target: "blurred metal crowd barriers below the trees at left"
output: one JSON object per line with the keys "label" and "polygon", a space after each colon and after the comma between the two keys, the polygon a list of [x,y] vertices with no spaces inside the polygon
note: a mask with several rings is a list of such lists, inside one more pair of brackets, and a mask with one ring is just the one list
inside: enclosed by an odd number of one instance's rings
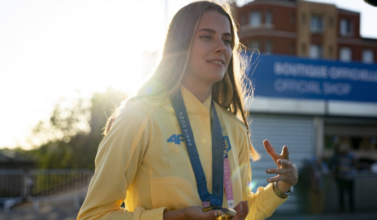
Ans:
{"label": "blurred metal crowd barriers below the trees at left", "polygon": [[40,202],[73,201],[80,208],[80,198],[93,176],[90,169],[0,169],[0,203],[7,211],[22,201]]}

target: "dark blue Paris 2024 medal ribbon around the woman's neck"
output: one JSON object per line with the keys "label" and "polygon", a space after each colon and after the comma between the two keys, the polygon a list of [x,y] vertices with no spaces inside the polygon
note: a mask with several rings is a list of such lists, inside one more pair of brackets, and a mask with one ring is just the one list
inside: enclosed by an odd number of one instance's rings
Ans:
{"label": "dark blue Paris 2024 medal ribbon around the woman's neck", "polygon": [[[191,165],[194,170],[195,178],[197,180],[197,187],[199,196],[202,200],[203,206],[222,206],[223,205],[223,191],[224,191],[224,154],[223,154],[223,133],[219,117],[217,115],[214,101],[212,101],[212,194],[208,191],[206,175],[203,171],[203,166],[199,158],[199,153],[194,140],[193,130],[190,125],[189,116],[187,115],[186,107],[184,105],[182,93],[180,89],[176,95],[171,97],[176,117],[182,131],[187,152],[189,153]],[[233,197],[233,195],[232,195]]]}

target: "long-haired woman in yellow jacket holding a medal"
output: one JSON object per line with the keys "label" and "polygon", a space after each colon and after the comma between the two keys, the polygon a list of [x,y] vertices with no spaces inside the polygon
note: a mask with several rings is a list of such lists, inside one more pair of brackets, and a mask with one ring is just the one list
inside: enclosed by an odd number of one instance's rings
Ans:
{"label": "long-haired woman in yellow jacket holding a medal", "polygon": [[106,124],[78,219],[222,214],[203,211],[208,205],[234,208],[234,220],[264,219],[286,200],[297,169],[286,146],[279,155],[267,140],[278,168],[266,171],[278,175],[248,190],[250,155],[259,154],[249,140],[240,52],[229,6],[198,1],[174,15],[153,76]]}

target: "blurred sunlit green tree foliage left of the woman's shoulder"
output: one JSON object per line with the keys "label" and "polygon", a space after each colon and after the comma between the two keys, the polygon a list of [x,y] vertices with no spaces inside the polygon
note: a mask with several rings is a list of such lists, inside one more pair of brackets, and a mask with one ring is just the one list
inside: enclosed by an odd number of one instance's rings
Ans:
{"label": "blurred sunlit green tree foliage left of the woman's shoulder", "polygon": [[39,122],[34,129],[33,141],[41,144],[32,150],[16,148],[14,153],[32,158],[38,168],[94,169],[107,116],[125,97],[123,92],[107,89],[94,93],[90,101],[62,99],[50,120]]}

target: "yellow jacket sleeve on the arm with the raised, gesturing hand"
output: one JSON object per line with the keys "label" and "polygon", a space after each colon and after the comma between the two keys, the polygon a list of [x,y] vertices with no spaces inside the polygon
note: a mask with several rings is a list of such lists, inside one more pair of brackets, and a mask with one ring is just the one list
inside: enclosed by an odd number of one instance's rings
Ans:
{"label": "yellow jacket sleeve on the arm with the raised, gesturing hand", "polygon": [[[249,214],[247,220],[266,219],[271,216],[276,208],[286,199],[278,197],[273,188],[272,183],[265,187],[258,187],[256,192],[252,192],[248,187],[251,182],[251,164],[250,164],[250,147],[247,139],[247,132],[244,130],[244,138],[240,141],[239,162],[243,187],[243,200],[249,201]],[[247,165],[242,165],[247,164]],[[266,167],[268,168],[268,167]]]}

